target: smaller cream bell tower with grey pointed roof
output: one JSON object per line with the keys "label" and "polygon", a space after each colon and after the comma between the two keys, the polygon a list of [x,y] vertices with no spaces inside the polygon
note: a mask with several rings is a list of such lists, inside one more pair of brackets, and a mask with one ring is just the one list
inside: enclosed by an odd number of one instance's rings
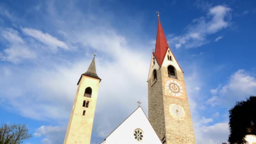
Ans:
{"label": "smaller cream bell tower with grey pointed roof", "polygon": [[101,81],[96,74],[94,57],[87,72],[81,75],[77,83],[77,93],[64,144],[90,144],[99,83]]}

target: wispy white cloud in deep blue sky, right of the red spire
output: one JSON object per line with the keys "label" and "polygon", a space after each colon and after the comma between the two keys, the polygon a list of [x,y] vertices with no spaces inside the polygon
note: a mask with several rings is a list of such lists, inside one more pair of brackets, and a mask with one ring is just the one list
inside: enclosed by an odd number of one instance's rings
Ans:
{"label": "wispy white cloud in deep blue sky, right of the red spire", "polygon": [[207,17],[194,19],[193,23],[187,27],[184,35],[174,36],[169,39],[171,45],[176,48],[199,47],[208,43],[207,36],[214,34],[221,29],[228,27],[231,19],[231,8],[224,5],[217,5],[209,9]]}

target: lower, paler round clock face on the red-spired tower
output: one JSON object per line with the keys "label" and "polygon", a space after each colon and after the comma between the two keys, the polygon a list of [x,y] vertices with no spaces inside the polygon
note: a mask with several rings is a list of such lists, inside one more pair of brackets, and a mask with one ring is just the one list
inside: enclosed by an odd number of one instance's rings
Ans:
{"label": "lower, paler round clock face on the red-spired tower", "polygon": [[170,112],[171,117],[173,117],[174,120],[184,120],[185,119],[186,114],[185,114],[184,108],[178,104],[170,104],[169,112]]}

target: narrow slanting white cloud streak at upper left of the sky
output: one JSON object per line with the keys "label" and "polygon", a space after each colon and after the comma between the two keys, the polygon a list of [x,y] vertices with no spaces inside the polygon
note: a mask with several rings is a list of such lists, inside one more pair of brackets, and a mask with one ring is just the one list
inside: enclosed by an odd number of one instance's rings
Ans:
{"label": "narrow slanting white cloud streak at upper left of the sky", "polygon": [[53,52],[56,52],[58,48],[69,49],[68,45],[58,38],[53,37],[48,33],[43,33],[40,30],[32,29],[32,28],[22,28],[22,31],[31,37],[34,37],[36,40],[48,45]]}

